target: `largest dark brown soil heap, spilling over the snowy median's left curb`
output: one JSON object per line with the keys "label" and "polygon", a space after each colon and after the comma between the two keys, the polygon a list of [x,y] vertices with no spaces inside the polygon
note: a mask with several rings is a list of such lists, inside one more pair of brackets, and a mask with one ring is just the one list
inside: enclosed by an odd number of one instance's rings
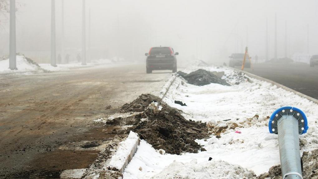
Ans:
{"label": "largest dark brown soil heap, spilling over the snowy median's left curb", "polygon": [[[148,99],[156,99],[162,106],[161,110],[157,107],[147,107],[146,110],[135,116],[135,125],[127,130],[134,131],[140,135],[141,139],[146,140],[155,149],[163,149],[169,154],[181,154],[183,152],[197,153],[199,150],[205,151],[195,139],[202,139],[207,136],[208,130],[206,123],[199,123],[192,120],[186,120],[178,109],[172,108],[163,103],[156,96],[147,94]],[[145,94],[134,100],[137,104],[130,103],[129,106],[136,106],[139,110],[141,99]],[[151,101],[152,102],[152,101]],[[150,103],[151,103],[150,102]],[[143,104],[146,104],[143,103]],[[123,108],[126,108],[124,105]],[[134,109],[132,111],[135,111]],[[140,120],[147,119],[147,120]]]}

